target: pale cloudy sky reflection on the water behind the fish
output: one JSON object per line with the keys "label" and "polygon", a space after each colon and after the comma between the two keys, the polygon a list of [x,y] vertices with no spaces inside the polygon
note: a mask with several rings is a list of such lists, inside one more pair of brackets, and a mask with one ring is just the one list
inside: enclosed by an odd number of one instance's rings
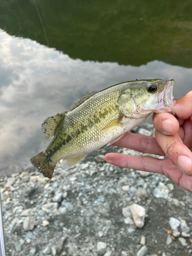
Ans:
{"label": "pale cloudy sky reflection on the water behind the fish", "polygon": [[4,31],[0,51],[0,150],[6,174],[31,165],[29,159],[45,150],[50,140],[41,135],[42,121],[66,111],[86,93],[136,78],[175,79],[177,98],[192,88],[192,69],[158,60],[140,67],[82,61]]}

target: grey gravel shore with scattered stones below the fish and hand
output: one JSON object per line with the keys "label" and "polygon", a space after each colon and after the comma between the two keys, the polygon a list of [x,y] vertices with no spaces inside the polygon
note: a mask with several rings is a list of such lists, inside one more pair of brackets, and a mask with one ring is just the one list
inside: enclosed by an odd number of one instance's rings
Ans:
{"label": "grey gravel shore with scattered stones below the fish and hand", "polygon": [[0,177],[8,256],[192,255],[191,195],[162,175],[111,166],[108,152],[142,155],[108,146],[57,165],[51,180],[34,167]]}

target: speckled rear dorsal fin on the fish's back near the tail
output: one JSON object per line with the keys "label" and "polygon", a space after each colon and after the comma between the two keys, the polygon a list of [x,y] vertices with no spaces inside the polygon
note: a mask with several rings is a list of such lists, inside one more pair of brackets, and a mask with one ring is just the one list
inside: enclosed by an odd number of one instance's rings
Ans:
{"label": "speckled rear dorsal fin on the fish's back near the tail", "polygon": [[66,113],[67,112],[50,116],[44,122],[42,122],[41,132],[44,139],[49,139],[55,135],[57,124],[60,122],[61,118],[66,115]]}

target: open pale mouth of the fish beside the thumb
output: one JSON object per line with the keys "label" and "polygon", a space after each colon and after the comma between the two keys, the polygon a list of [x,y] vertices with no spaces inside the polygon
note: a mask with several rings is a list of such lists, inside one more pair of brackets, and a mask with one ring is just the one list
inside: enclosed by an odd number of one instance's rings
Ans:
{"label": "open pale mouth of the fish beside the thumb", "polygon": [[174,80],[166,81],[166,86],[158,97],[158,113],[159,112],[172,112],[175,105],[173,97]]}

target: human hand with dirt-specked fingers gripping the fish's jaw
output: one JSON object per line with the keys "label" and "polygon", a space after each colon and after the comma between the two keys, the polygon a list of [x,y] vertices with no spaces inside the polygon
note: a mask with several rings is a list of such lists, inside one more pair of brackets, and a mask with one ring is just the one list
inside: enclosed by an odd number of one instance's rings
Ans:
{"label": "human hand with dirt-specked fingers gripping the fish's jaw", "polygon": [[176,117],[169,113],[154,114],[155,138],[126,133],[113,144],[164,159],[110,153],[105,155],[105,161],[163,174],[192,194],[192,91],[176,101],[174,112]]}

